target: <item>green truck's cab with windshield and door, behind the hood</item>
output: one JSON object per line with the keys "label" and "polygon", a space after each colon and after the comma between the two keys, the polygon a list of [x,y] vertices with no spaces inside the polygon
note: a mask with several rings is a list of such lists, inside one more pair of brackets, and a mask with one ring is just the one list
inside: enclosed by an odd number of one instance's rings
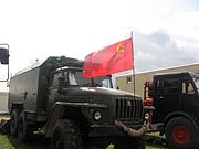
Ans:
{"label": "green truck's cab with windshield and door, behind the hood", "polygon": [[54,97],[54,93],[64,94],[73,91],[77,94],[81,89],[90,91],[90,88],[86,87],[93,87],[93,89],[96,87],[113,88],[111,75],[95,78],[84,78],[82,77],[82,66],[64,66],[52,72],[49,81],[50,97],[48,110],[51,110],[52,106],[55,102],[57,102]]}

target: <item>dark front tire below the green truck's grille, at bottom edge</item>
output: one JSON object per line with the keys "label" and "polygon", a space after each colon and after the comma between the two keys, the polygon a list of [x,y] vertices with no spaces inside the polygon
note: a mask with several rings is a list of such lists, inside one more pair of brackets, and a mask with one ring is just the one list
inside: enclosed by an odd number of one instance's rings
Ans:
{"label": "dark front tire below the green truck's grille, at bottom edge", "polygon": [[143,137],[124,137],[115,142],[114,149],[145,149],[145,140]]}

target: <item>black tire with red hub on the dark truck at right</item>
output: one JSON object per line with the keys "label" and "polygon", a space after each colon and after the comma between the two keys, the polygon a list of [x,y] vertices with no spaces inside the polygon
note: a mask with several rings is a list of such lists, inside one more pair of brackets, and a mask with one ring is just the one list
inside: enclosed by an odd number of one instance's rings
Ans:
{"label": "black tire with red hub on the dark truck at right", "polygon": [[171,149],[195,149],[196,129],[185,117],[172,118],[165,128],[168,146]]}

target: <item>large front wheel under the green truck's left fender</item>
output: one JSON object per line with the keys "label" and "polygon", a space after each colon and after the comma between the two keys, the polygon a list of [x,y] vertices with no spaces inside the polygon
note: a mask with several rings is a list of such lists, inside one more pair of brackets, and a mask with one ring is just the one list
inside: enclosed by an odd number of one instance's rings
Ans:
{"label": "large front wheel under the green truck's left fender", "polygon": [[51,149],[82,149],[78,127],[69,119],[60,119],[54,126]]}

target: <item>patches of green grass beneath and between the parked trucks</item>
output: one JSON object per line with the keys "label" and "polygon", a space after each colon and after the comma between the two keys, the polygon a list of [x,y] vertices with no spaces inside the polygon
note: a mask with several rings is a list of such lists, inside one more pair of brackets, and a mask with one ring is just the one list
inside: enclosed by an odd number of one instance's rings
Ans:
{"label": "patches of green grass beneath and between the parked trucks", "polygon": [[[30,143],[22,143],[14,137],[0,135],[0,149],[50,149],[50,140],[45,139],[42,135],[35,135],[33,141]],[[107,149],[114,149],[109,146]],[[147,143],[146,149],[167,149],[166,147]]]}

